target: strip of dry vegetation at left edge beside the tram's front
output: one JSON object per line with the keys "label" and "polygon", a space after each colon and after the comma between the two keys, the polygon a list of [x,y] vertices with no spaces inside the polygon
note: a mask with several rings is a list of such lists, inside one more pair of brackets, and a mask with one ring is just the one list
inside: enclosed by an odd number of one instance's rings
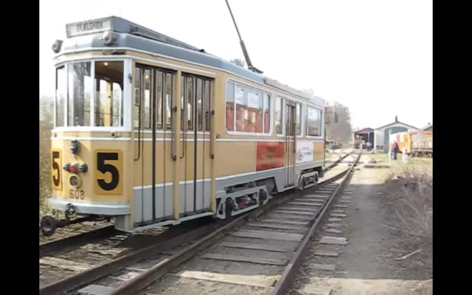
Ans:
{"label": "strip of dry vegetation at left edge beside the tram's front", "polygon": [[51,193],[51,125],[39,122],[39,215],[49,213],[46,198]]}

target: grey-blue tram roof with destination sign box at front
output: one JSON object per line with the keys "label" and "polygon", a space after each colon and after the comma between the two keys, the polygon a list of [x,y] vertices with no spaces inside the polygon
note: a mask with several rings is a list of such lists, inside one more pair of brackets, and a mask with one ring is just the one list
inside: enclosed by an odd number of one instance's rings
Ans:
{"label": "grey-blue tram roof with destination sign box at front", "polygon": [[[116,38],[114,44],[107,46],[110,49],[137,49],[208,65],[235,73],[236,75],[261,84],[275,87],[279,90],[310,101],[313,104],[325,105],[325,100],[322,98],[310,96],[302,91],[267,78],[245,67],[233,64],[228,60],[207,53],[204,49],[197,48],[116,16],[66,24],[66,35],[69,40],[64,41],[62,50],[73,51],[77,49],[90,48],[93,50],[94,48],[103,48],[105,45],[102,36],[105,31],[118,33],[114,36]],[[74,40],[70,40],[71,38],[74,38]]]}

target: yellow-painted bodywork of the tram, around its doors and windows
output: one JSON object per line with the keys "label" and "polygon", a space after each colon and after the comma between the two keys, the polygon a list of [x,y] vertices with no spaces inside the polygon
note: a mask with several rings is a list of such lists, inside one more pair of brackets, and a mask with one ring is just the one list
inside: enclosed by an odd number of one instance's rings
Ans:
{"label": "yellow-painted bodywork of the tram, around its doors and windows", "polygon": [[[89,51],[77,54],[66,54],[62,58],[85,58],[94,57],[105,54],[102,51]],[[133,61],[132,68],[137,64],[156,67],[164,70],[174,70],[172,103],[173,108],[181,109],[181,97],[183,90],[181,89],[182,75],[198,75],[211,80],[211,110],[214,115],[211,120],[211,132],[205,131],[197,133],[197,140],[194,139],[194,132],[188,131],[184,133],[181,130],[181,114],[173,113],[172,128],[180,132],[172,132],[173,130],[159,130],[155,134],[155,179],[152,179],[152,131],[149,129],[141,130],[138,142],[138,129],[134,126],[135,119],[131,119],[131,130],[129,132],[115,132],[114,136],[121,137],[120,140],[114,140],[110,132],[60,132],[54,131],[52,138],[52,148],[55,156],[59,153],[59,158],[54,160],[60,167],[60,183],[52,183],[54,195],[59,198],[69,199],[71,191],[74,190],[68,183],[70,173],[62,170],[65,163],[87,163],[89,171],[85,174],[80,173],[82,177],[82,185],[79,188],[84,191],[83,200],[91,202],[110,202],[120,203],[127,202],[130,204],[130,228],[134,227],[134,189],[152,185],[153,183],[173,183],[173,217],[179,219],[179,184],[184,181],[191,181],[196,178],[211,180],[211,210],[216,211],[216,179],[227,176],[240,175],[245,173],[256,172],[257,161],[257,143],[261,141],[267,142],[284,142],[283,136],[277,136],[275,133],[275,120],[272,119],[271,134],[229,134],[225,125],[225,93],[226,81],[230,79],[238,84],[257,88],[261,91],[269,93],[275,103],[276,97],[284,97],[293,102],[309,104],[307,101],[297,97],[287,95],[283,91],[260,85],[251,80],[231,75],[222,70],[196,65],[185,61],[170,60],[150,54],[126,51],[126,55],[133,55],[137,59]],[[131,85],[135,85],[135,76],[131,77]],[[135,102],[134,93],[131,100]],[[320,107],[320,106],[318,106]],[[270,116],[273,118],[274,107]],[[142,112],[144,110],[141,109]],[[133,110],[124,110],[125,113],[134,114]],[[141,116],[142,118],[142,116]],[[79,156],[74,156],[69,151],[70,140],[61,140],[61,137],[82,137],[81,151]],[[90,140],[95,137],[107,138],[109,140]],[[57,139],[54,139],[57,138]],[[87,139],[89,138],[89,139]],[[118,138],[117,138],[118,139]],[[323,138],[307,138],[304,136],[296,137],[295,141],[312,141],[313,143],[313,161],[322,161],[324,157],[324,140]],[[293,143],[292,143],[293,144]],[[194,155],[194,149],[197,149]],[[110,173],[98,171],[98,153],[116,153],[118,160],[105,160],[102,165],[112,165],[119,172],[119,183],[113,189],[104,190],[103,183],[112,182]],[[51,155],[52,156],[52,155]],[[175,158],[173,158],[175,156]],[[214,158],[213,158],[214,157]],[[283,157],[283,156],[282,156]],[[196,162],[194,161],[196,159]],[[293,158],[291,161],[294,161]],[[196,175],[194,175],[195,163],[197,165]],[[282,162],[283,163],[283,162]],[[294,165],[285,162],[285,165]],[[283,165],[283,164],[282,164]],[[54,167],[53,177],[57,177],[57,170]],[[102,186],[99,182],[101,181]],[[110,188],[110,187],[108,187]],[[79,194],[80,195],[80,194]]]}

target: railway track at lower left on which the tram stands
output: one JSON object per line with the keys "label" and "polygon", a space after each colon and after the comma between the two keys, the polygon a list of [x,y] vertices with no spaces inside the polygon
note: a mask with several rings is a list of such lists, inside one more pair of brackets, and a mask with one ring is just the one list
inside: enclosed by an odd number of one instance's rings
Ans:
{"label": "railway track at lower left on which the tram stands", "polygon": [[[218,226],[215,219],[208,217],[198,219],[193,224],[156,228],[136,234],[122,233],[111,228],[110,235],[106,235],[107,228],[104,228],[101,237],[93,236],[95,231],[91,231],[79,235],[75,241],[70,238],[57,240],[53,242],[56,246],[43,250],[40,247],[39,293],[61,293],[81,285],[84,280],[94,280],[109,274],[114,270],[110,266],[123,262],[131,263],[140,255],[149,255],[149,251],[154,248],[167,249],[169,245],[174,245],[172,241],[180,245],[188,242],[185,239],[199,238],[195,228],[202,228],[200,235],[204,235]],[[87,237],[91,239],[87,240]],[[177,237],[182,239],[173,240]],[[66,244],[68,246],[65,249],[59,248],[60,245]],[[46,250],[49,253],[46,253]]]}

